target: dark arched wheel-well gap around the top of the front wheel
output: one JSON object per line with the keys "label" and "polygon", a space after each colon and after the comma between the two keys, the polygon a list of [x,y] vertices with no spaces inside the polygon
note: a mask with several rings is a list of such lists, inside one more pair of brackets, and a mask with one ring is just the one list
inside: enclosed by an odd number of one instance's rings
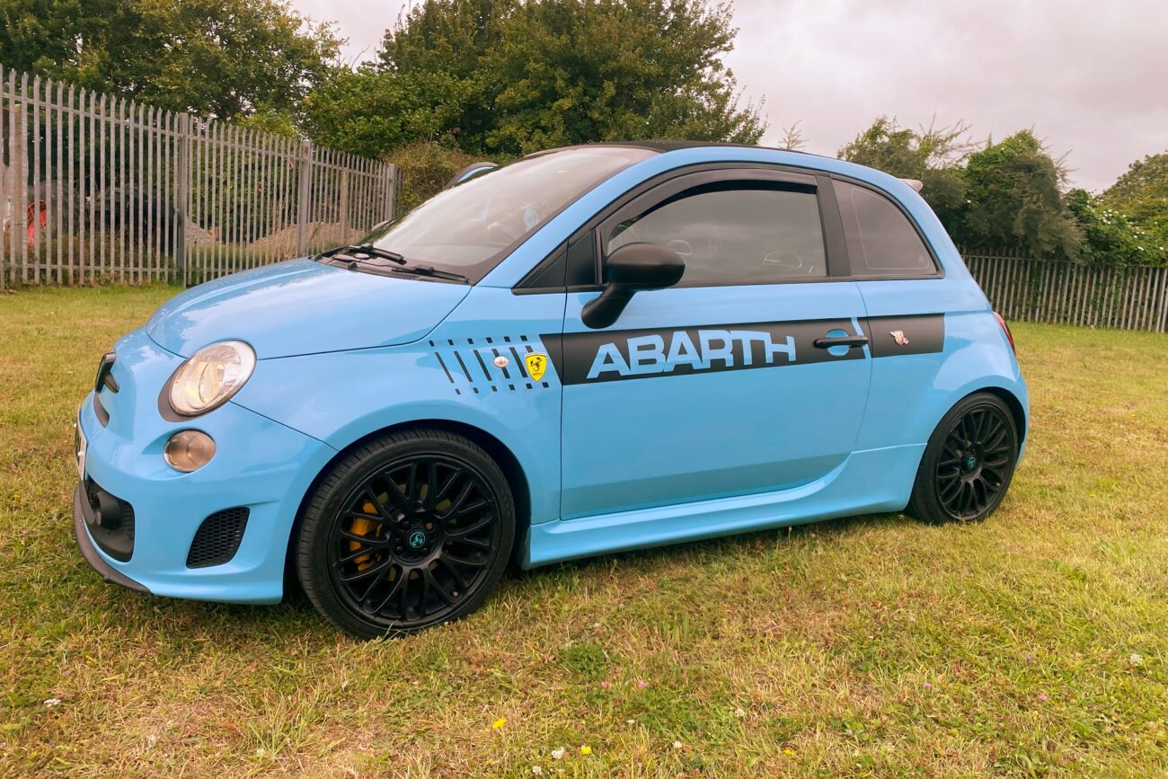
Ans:
{"label": "dark arched wheel-well gap around the top of the front wheel", "polygon": [[387,425],[357,438],[347,446],[340,448],[336,454],[334,454],[317,473],[317,475],[313,477],[312,481],[308,484],[308,488],[305,491],[304,495],[300,496],[300,503],[297,507],[296,519],[292,521],[292,526],[288,529],[287,550],[284,556],[285,597],[287,594],[288,586],[299,589],[299,580],[296,573],[297,535],[300,530],[300,523],[304,520],[305,508],[308,506],[308,501],[312,500],[312,495],[317,492],[317,487],[320,485],[321,480],[338,462],[348,457],[349,453],[359,446],[362,446],[375,438],[381,438],[382,436],[388,436],[404,430],[442,430],[444,432],[463,436],[486,450],[487,454],[489,454],[495,462],[499,464],[499,467],[502,468],[503,477],[507,479],[507,484],[512,489],[512,498],[515,501],[515,541],[510,550],[510,556],[513,559],[516,558],[520,545],[527,540],[527,529],[531,522],[531,491],[527,473],[523,471],[523,466],[520,464],[519,458],[515,457],[515,453],[512,452],[510,447],[499,440],[495,436],[492,436],[481,427],[477,427],[465,422],[437,418],[411,419],[408,422],[398,422]]}

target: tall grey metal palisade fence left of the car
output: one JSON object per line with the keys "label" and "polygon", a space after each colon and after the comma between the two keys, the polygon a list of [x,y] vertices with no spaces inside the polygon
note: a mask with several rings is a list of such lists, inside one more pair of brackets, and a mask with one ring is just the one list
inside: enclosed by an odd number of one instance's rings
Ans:
{"label": "tall grey metal palisade fence left of the car", "polygon": [[0,67],[0,288],[196,284],[352,242],[397,171]]}

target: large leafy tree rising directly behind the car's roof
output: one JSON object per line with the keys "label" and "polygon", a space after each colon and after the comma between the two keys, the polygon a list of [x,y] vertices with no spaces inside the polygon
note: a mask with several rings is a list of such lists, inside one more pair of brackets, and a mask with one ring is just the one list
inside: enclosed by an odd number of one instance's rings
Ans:
{"label": "large leafy tree rising directly behind the car's roof", "polygon": [[722,63],[734,34],[730,7],[709,0],[426,0],[387,32],[373,68],[310,99],[308,124],[343,140],[341,121],[401,107],[380,148],[360,141],[367,153],[437,137],[495,157],[639,138],[756,142],[765,124]]}

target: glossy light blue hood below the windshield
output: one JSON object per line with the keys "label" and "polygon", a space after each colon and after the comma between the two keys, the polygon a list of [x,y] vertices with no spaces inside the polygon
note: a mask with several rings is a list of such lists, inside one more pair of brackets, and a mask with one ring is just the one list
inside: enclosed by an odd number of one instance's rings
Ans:
{"label": "glossy light blue hood below the windshield", "polygon": [[432,331],[470,290],[293,259],[192,287],[162,304],[146,332],[183,357],[227,340],[250,343],[260,360],[392,346]]}

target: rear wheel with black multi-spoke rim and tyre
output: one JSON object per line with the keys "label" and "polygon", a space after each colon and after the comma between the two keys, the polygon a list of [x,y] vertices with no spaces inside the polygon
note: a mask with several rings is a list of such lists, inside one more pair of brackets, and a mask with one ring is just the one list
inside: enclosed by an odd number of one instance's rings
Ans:
{"label": "rear wheel with black multi-spoke rim and tyre", "polygon": [[1014,415],[996,395],[954,405],[925,446],[908,513],[924,522],[980,522],[1006,496],[1018,458]]}

